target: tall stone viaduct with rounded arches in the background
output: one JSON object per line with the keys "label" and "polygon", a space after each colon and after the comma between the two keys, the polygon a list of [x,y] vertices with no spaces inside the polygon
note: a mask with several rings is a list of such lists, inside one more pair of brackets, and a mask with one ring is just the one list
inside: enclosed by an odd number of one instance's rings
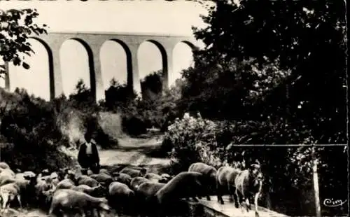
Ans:
{"label": "tall stone viaduct with rounded arches in the background", "polygon": [[[183,42],[192,49],[197,49],[198,42],[191,36],[170,34],[135,34],[118,32],[69,32],[50,31],[48,34],[31,36],[43,44],[48,51],[50,73],[50,98],[53,99],[63,93],[62,71],[59,50],[64,41],[72,39],[80,42],[87,51],[90,69],[90,87],[95,99],[104,99],[104,85],[102,80],[100,48],[105,41],[115,41],[122,45],[127,56],[127,85],[131,85],[136,92],[141,92],[137,51],[144,41],[155,44],[162,55],[164,72],[163,86],[169,87],[169,74],[173,72],[173,50],[177,43]],[[73,69],[74,66],[72,66]],[[8,69],[8,67],[7,67]],[[73,70],[72,70],[73,71]],[[8,72],[8,70],[7,70]],[[10,81],[6,76],[6,89],[9,90]]]}

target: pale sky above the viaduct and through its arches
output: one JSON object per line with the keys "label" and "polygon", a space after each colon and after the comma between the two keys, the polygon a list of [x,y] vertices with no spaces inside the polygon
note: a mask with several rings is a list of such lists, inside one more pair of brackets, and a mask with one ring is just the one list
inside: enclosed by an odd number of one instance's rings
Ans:
{"label": "pale sky above the viaduct and through its arches", "polygon": [[[193,1],[1,1],[0,8],[36,8],[40,14],[38,23],[45,23],[49,31],[116,31],[156,34],[182,34],[193,36],[192,26],[205,27],[200,15],[207,14],[200,4]],[[38,41],[31,40],[31,57],[26,57],[29,70],[10,66],[10,90],[24,87],[29,93],[50,99],[48,80],[48,57]],[[180,71],[192,64],[192,52],[188,45],[179,43],[173,51],[174,75],[170,83],[181,77]],[[106,41],[100,50],[102,77],[105,89],[116,78],[125,83],[126,55],[123,48],[113,41]],[[145,41],[138,50],[139,76],[144,78],[162,67],[160,51],[151,42]],[[77,41],[65,41],[60,50],[60,62],[64,94],[74,91],[82,78],[90,87],[87,53]],[[1,78],[0,85],[3,86]]]}

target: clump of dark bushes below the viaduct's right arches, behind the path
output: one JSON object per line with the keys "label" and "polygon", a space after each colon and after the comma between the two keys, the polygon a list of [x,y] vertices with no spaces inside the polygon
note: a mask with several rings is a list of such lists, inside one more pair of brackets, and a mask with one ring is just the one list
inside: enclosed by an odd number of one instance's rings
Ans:
{"label": "clump of dark bushes below the viaduct's right arches, behind the path", "polygon": [[[146,76],[142,83],[142,99],[130,92],[127,85],[111,80],[106,90],[106,101],[101,105],[106,111],[120,113],[123,131],[132,136],[145,134],[148,128],[167,130],[167,126],[179,116],[177,102],[181,99],[181,89],[174,86],[162,90],[161,71]],[[181,84],[181,81],[177,81]]]}

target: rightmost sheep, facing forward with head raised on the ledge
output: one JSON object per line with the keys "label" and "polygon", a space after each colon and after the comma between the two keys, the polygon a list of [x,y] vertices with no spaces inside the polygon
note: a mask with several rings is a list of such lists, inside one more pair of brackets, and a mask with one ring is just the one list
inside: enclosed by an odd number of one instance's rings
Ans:
{"label": "rightmost sheep, facing forward with head raised on the ledge", "polygon": [[241,171],[235,179],[237,200],[243,202],[246,200],[246,211],[251,209],[250,197],[254,197],[255,216],[258,217],[258,198],[262,189],[262,173],[260,165],[253,164],[249,169]]}

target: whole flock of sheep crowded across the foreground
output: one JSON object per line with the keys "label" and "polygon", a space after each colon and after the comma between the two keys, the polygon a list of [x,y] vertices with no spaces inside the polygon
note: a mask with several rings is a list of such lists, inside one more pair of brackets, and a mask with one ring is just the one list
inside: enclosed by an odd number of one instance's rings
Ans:
{"label": "whole flock of sheep crowded across the foreground", "polygon": [[[81,216],[102,216],[111,208],[123,213],[127,207],[137,207],[145,215],[162,215],[167,205],[181,198],[207,197],[216,192],[218,202],[223,204],[222,195],[229,194],[238,208],[246,202],[246,211],[251,209],[250,198],[255,203],[258,216],[258,197],[262,188],[260,165],[248,169],[221,167],[218,170],[202,162],[190,165],[188,172],[176,176],[147,172],[142,167],[110,167],[100,169],[99,174],[79,169],[59,169],[40,174],[34,172],[13,172],[6,162],[0,162],[0,215],[9,206],[41,208],[47,207],[50,216],[81,214]],[[132,204],[132,206],[131,206]],[[50,209],[48,209],[50,207]],[[242,211],[243,207],[241,206]],[[134,208],[132,208],[134,209]]]}

